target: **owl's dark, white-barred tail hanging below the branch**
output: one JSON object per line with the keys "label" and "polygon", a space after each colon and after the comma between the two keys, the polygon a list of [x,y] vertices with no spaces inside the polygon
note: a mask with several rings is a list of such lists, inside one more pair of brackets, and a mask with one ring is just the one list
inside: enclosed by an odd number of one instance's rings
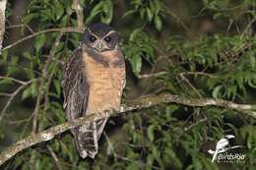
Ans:
{"label": "owl's dark, white-barred tail hanging below the branch", "polygon": [[107,118],[90,122],[73,131],[76,146],[81,157],[86,158],[90,156],[93,159],[95,158],[98,150],[97,141],[103,132],[106,121]]}

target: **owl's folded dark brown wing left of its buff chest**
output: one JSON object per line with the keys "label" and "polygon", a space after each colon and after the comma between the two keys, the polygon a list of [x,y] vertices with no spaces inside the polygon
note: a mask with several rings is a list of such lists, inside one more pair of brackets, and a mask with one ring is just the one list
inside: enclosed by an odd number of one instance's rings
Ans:
{"label": "owl's folded dark brown wing left of its buff chest", "polygon": [[63,94],[68,120],[79,118],[87,110],[89,84],[83,65],[83,48],[77,48],[63,68]]}

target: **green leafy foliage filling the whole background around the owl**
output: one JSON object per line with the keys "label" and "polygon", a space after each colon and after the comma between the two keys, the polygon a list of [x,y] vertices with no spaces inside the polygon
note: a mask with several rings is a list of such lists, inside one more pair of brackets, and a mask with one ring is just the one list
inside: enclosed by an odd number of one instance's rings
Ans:
{"label": "green leafy foliage filling the whole background around the owl", "polygon": [[[122,50],[128,72],[123,101],[130,99],[130,93],[139,96],[171,92],[183,97],[254,103],[256,38],[249,24],[255,17],[251,10],[255,2],[203,0],[191,5],[185,1],[179,9],[182,2],[175,5],[174,1],[166,0],[121,1],[118,3],[124,8],[120,12],[116,1],[80,0],[86,25],[105,23],[123,36]],[[15,12],[10,9],[13,3],[9,4],[8,15],[13,16]],[[180,13],[173,15],[179,10]],[[76,27],[78,23],[72,0],[31,0],[22,21],[33,31]],[[209,23],[210,30],[200,28]],[[189,31],[184,32],[186,25]],[[15,141],[31,134],[35,112],[37,131],[66,121],[62,108],[62,64],[78,46],[81,34],[64,32],[54,46],[58,35],[57,31],[38,33],[26,48],[13,46],[2,51],[1,75],[23,82],[0,79],[0,94],[22,85],[4,115],[5,121],[0,120],[1,141],[10,138]],[[161,70],[165,74],[140,80],[142,73]],[[23,86],[24,83],[28,85]],[[1,103],[6,99],[7,96],[1,97]],[[234,111],[162,104],[129,114],[121,126],[109,128],[115,123],[120,124],[115,119],[108,121],[109,137],[101,137],[95,160],[80,158],[71,133],[64,133],[24,150],[4,168],[57,169],[59,163],[63,169],[72,170],[222,169],[221,164],[211,162],[212,155],[207,150],[214,149],[224,134],[234,134],[236,142],[244,145],[247,156],[245,164],[226,166],[256,167],[255,120]]]}

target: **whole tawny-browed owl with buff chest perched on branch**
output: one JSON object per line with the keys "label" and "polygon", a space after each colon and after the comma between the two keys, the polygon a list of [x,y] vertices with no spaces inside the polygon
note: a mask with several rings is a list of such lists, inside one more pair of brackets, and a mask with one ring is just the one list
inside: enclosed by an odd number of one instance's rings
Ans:
{"label": "whole tawny-browed owl with buff chest perched on branch", "polygon": [[[69,121],[105,110],[119,110],[125,62],[118,33],[107,25],[86,28],[80,46],[64,65],[64,108]],[[107,119],[71,130],[81,157],[95,158]]]}

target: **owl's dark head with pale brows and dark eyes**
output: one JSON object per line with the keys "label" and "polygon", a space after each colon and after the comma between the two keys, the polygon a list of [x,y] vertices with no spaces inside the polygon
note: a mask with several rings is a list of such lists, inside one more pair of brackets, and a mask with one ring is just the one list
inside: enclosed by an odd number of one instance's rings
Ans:
{"label": "owl's dark head with pale brows and dark eyes", "polygon": [[119,39],[119,34],[113,28],[104,24],[95,24],[86,28],[83,43],[101,53],[117,48]]}

